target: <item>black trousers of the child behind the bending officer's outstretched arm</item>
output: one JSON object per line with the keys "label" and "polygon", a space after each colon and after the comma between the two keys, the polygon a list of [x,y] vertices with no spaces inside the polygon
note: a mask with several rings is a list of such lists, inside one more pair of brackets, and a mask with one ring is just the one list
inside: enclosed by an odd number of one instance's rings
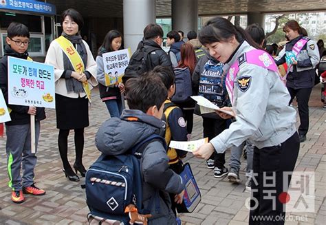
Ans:
{"label": "black trousers of the child behind the bending officer's outstretched arm", "polygon": [[[204,138],[212,140],[226,129],[226,120],[216,120],[213,118],[203,117],[203,128]],[[210,156],[210,159],[214,160],[215,167],[222,169],[226,163],[226,154],[214,152],[212,156]]]}

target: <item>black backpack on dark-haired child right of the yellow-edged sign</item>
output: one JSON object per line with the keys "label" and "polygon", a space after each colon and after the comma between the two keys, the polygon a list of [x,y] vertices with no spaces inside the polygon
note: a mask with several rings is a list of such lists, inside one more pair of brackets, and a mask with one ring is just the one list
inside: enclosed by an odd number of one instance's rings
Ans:
{"label": "black backpack on dark-haired child right of the yellow-edged sign", "polygon": [[129,65],[124,70],[124,76],[122,76],[122,81],[125,83],[129,78],[138,77],[144,72],[148,72],[154,68],[151,62],[151,52],[157,50],[157,47],[149,46],[140,47],[136,50],[130,58]]}

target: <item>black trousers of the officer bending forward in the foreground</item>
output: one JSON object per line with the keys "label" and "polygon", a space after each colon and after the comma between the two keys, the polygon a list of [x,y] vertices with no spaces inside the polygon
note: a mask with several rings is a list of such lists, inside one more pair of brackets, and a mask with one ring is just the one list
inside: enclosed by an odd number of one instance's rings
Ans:
{"label": "black trousers of the officer bending forward in the foreground", "polygon": [[[283,172],[292,174],[298,158],[300,140],[298,133],[288,138],[285,142],[272,146],[257,149],[254,147],[253,176],[250,200],[250,225],[283,225],[280,217],[285,217],[285,204],[279,201],[279,195],[287,192],[291,175],[288,176],[288,183],[283,183]],[[264,183],[265,182],[265,183]],[[268,219],[258,216],[269,216]],[[275,221],[273,221],[275,219]],[[278,220],[278,221],[276,221]]]}

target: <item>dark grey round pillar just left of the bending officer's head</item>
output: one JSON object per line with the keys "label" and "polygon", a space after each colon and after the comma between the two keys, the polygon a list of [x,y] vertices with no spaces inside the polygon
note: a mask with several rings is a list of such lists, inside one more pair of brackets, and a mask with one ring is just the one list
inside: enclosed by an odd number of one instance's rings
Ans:
{"label": "dark grey round pillar just left of the bending officer's head", "polygon": [[182,30],[184,37],[191,30],[198,29],[198,1],[171,0],[172,30]]}

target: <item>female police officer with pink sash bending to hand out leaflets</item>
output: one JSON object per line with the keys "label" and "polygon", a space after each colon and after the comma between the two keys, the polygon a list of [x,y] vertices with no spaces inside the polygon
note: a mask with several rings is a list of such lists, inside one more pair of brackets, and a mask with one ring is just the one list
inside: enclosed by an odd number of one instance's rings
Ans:
{"label": "female police officer with pink sash bending to hand out leaflets", "polygon": [[[239,146],[249,139],[255,146],[249,224],[263,223],[258,215],[272,217],[273,224],[284,224],[276,221],[285,216],[285,202],[280,196],[290,183],[283,183],[283,172],[293,171],[300,147],[296,111],[287,104],[290,94],[271,56],[257,50],[259,45],[227,19],[208,21],[199,33],[199,41],[211,56],[226,63],[232,108],[222,109],[234,111],[236,121],[194,155],[207,159],[213,151],[222,153],[232,144]],[[219,115],[227,118],[226,114]],[[266,178],[272,184],[264,184]]]}

